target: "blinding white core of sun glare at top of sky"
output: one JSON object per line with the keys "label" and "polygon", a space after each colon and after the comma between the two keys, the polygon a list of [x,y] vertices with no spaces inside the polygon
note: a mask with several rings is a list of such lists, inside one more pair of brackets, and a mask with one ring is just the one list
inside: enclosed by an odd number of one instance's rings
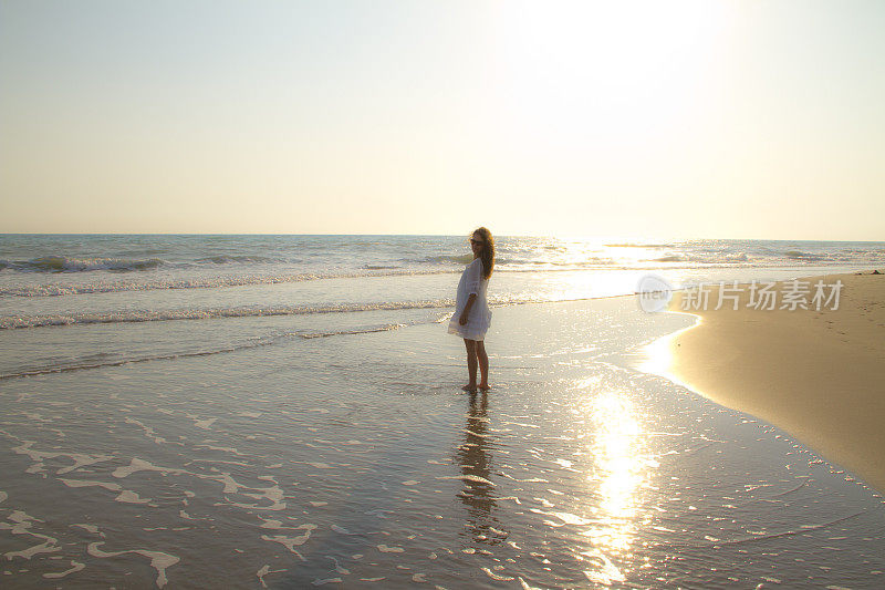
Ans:
{"label": "blinding white core of sun glare at top of sky", "polygon": [[580,141],[664,134],[702,100],[727,21],[721,2],[507,2],[498,14],[502,102]]}

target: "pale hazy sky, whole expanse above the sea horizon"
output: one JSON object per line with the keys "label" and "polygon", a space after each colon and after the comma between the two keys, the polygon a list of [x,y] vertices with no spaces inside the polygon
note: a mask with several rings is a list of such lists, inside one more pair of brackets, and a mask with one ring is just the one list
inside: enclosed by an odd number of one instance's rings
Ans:
{"label": "pale hazy sky, whole expanse above the sea horizon", "polygon": [[0,0],[0,232],[885,239],[885,2]]}

